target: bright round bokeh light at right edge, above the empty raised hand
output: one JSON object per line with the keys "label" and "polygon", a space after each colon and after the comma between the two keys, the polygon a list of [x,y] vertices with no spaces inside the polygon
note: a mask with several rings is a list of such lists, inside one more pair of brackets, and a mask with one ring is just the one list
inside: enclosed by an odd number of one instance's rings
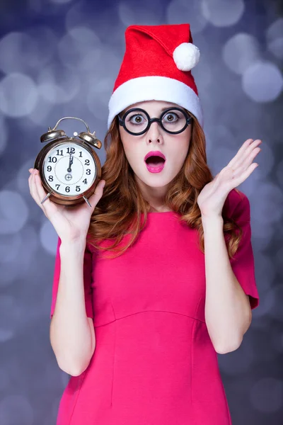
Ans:
{"label": "bright round bokeh light at right edge, above the empty raised hand", "polygon": [[280,95],[283,78],[272,62],[256,62],[246,69],[242,78],[243,91],[255,102],[270,102]]}

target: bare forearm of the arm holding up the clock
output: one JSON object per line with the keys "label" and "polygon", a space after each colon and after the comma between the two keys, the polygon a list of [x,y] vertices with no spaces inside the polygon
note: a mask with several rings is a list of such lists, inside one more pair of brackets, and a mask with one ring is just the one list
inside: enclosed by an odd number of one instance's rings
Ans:
{"label": "bare forearm of the arm holding up the clock", "polygon": [[76,375],[84,370],[95,348],[86,316],[83,289],[85,243],[64,243],[59,251],[60,278],[50,324],[50,342],[60,368]]}

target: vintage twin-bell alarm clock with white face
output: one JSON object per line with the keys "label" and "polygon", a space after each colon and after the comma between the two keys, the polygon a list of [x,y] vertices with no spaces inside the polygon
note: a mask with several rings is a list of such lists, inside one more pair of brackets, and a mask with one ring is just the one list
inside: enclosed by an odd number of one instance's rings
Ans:
{"label": "vintage twin-bell alarm clock with white face", "polygon": [[[80,120],[86,125],[87,132],[74,132],[75,137],[68,137],[63,130],[57,130],[62,120]],[[40,137],[40,142],[48,142],[35,159],[34,168],[40,173],[42,186],[50,198],[61,205],[76,205],[88,201],[96,190],[101,178],[101,164],[94,148],[100,149],[102,143],[91,133],[88,125],[81,118],[61,118],[54,128]]]}

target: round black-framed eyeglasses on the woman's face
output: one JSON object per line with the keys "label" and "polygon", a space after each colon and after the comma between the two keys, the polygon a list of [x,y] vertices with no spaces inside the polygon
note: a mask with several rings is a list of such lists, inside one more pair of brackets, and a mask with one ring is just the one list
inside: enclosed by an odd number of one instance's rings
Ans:
{"label": "round black-framed eyeglasses on the woman's face", "polygon": [[151,123],[154,123],[154,121],[159,123],[161,128],[166,132],[177,135],[183,132],[192,120],[192,117],[181,108],[168,108],[166,111],[163,111],[160,118],[150,118],[149,114],[141,108],[129,109],[123,118],[120,118],[119,115],[117,116],[119,124],[122,125],[130,135],[134,136],[143,135],[149,130]]}

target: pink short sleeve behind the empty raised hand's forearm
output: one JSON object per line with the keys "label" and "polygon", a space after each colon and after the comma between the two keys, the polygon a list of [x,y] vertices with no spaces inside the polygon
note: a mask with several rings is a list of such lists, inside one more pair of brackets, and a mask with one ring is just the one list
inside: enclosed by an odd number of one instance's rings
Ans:
{"label": "pink short sleeve behind the empty raised hand's forearm", "polygon": [[234,259],[230,259],[233,273],[246,295],[250,295],[250,308],[259,305],[258,288],[255,282],[255,263],[251,244],[250,202],[248,197],[241,193],[241,200],[233,211],[232,218],[243,229],[240,244]]}

